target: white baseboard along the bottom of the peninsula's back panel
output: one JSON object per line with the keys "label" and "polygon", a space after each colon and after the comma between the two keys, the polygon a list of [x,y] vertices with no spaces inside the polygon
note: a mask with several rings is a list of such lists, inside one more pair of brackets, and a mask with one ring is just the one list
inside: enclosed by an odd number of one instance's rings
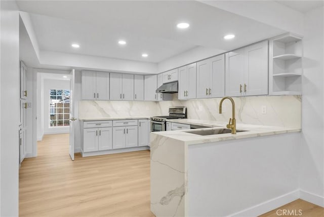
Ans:
{"label": "white baseboard along the bottom of the peninsula's back panel", "polygon": [[229,216],[258,216],[297,199],[299,199],[299,190],[292,191],[250,208],[235,212]]}

